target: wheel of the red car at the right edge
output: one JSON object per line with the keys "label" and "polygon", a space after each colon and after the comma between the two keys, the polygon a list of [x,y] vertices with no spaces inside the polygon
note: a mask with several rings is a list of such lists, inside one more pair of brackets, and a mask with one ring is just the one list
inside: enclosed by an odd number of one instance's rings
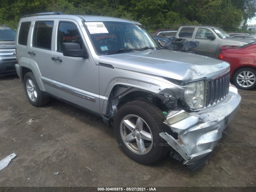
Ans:
{"label": "wheel of the red car at the right edge", "polygon": [[249,67],[241,68],[235,72],[233,81],[238,89],[253,89],[256,87],[256,70]]}

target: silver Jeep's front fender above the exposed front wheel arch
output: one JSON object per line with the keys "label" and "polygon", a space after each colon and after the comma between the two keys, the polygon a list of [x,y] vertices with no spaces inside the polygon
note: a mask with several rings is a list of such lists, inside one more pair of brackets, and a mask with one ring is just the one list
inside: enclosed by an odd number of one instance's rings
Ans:
{"label": "silver Jeep's front fender above the exposed front wheel arch", "polygon": [[[122,87],[124,87],[124,90],[120,90],[118,93],[118,99],[132,91],[142,91],[152,93],[153,95],[158,96],[161,100],[169,100],[170,98],[175,98],[175,100],[177,100],[183,90],[182,86],[173,84],[162,77],[131,72],[128,70],[99,66],[99,76],[101,82],[99,85],[100,108],[101,113],[104,115],[107,114],[108,103],[111,102],[109,99],[112,90],[117,85],[122,85]],[[129,90],[126,90],[125,87],[129,88]],[[112,97],[116,98],[116,96]]]}

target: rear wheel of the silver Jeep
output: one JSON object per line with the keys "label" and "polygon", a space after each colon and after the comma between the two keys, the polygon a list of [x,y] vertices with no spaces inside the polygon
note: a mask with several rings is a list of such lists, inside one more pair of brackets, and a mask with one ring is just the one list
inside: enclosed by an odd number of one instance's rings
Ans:
{"label": "rear wheel of the silver Jeep", "polygon": [[23,81],[24,90],[28,101],[36,107],[48,104],[49,98],[45,97],[40,90],[36,78],[32,72],[26,73]]}

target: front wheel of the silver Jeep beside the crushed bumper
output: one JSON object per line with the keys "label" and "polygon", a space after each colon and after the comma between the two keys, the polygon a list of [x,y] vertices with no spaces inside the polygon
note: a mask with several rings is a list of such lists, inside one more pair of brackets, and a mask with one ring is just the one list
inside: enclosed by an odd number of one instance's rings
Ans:
{"label": "front wheel of the silver Jeep beside the crushed bumper", "polygon": [[165,132],[161,110],[151,103],[124,104],[114,118],[114,133],[122,151],[141,164],[152,164],[165,156],[168,144],[159,136]]}

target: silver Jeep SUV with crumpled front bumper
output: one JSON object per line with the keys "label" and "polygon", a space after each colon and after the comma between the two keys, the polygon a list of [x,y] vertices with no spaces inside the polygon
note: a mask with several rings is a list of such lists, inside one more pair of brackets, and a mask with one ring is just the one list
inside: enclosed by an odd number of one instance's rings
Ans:
{"label": "silver Jeep SUV with crumpled front bumper", "polygon": [[169,152],[197,168],[240,106],[228,63],[161,49],[138,22],[27,16],[16,48],[16,70],[33,106],[52,96],[102,117],[114,126],[122,151],[139,163]]}

